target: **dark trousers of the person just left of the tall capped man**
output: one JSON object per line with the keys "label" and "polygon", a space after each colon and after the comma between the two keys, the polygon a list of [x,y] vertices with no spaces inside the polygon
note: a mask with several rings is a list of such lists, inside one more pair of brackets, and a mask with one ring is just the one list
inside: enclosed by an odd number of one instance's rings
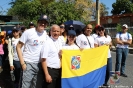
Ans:
{"label": "dark trousers of the person just left of the tall capped man", "polygon": [[18,84],[19,83],[19,79],[20,79],[20,73],[21,73],[20,61],[13,60],[13,65],[15,67],[15,70],[14,70],[15,84]]}

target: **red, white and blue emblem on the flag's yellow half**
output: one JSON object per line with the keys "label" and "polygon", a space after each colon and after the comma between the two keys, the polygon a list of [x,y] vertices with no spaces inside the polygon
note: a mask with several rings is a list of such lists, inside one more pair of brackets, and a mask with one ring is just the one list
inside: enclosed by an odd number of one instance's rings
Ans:
{"label": "red, white and blue emblem on the flag's yellow half", "polygon": [[71,69],[77,70],[80,68],[80,56],[72,56],[71,59]]}

